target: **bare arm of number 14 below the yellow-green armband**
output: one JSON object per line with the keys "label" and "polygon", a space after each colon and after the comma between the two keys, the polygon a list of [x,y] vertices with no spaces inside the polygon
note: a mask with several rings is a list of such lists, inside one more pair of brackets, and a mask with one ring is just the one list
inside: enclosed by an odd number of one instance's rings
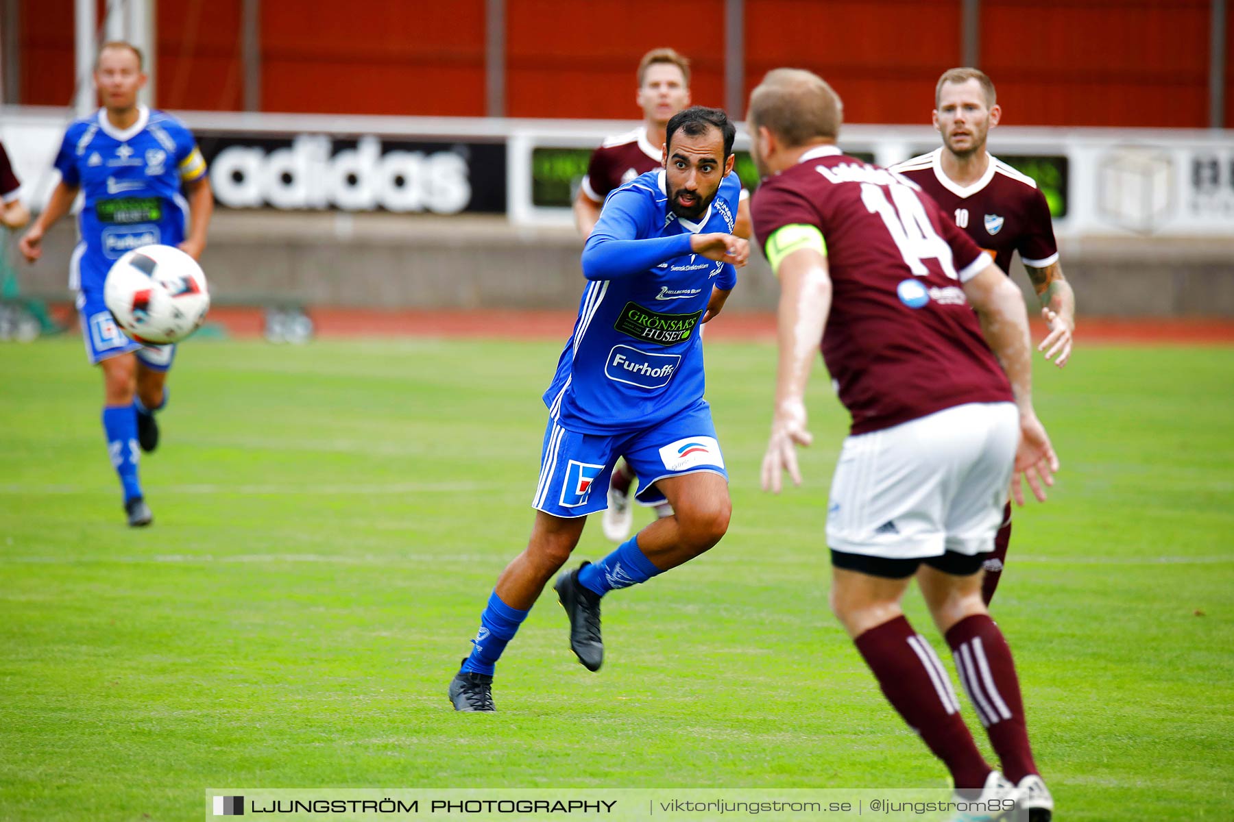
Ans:
{"label": "bare arm of number 14 below the yellow-green armband", "polygon": [[827,258],[814,248],[798,248],[772,260],[772,267],[780,277],[780,356],[771,437],[763,457],[763,490],[779,494],[785,471],[795,486],[801,484],[796,449],[813,441],[806,430],[806,383],[832,309],[832,279]]}

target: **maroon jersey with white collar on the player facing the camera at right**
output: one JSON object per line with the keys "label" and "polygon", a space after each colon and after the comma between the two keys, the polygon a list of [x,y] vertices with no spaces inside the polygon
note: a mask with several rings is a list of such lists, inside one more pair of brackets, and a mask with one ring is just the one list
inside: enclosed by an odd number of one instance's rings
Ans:
{"label": "maroon jersey with white collar on the player facing the camera at right", "polygon": [[1013,251],[1019,251],[1021,261],[1034,269],[1058,261],[1050,206],[1033,177],[991,157],[981,179],[961,186],[943,174],[942,154],[938,148],[891,170],[919,185],[1004,272],[1011,270]]}

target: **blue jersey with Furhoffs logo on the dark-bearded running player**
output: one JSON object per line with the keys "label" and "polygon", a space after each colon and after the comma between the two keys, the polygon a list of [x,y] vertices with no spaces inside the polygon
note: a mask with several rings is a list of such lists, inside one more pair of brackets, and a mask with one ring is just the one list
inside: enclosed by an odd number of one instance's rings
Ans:
{"label": "blue jersey with Furhoffs logo on the dark-bearded running player", "polygon": [[702,317],[712,287],[732,288],[737,275],[727,262],[691,254],[689,235],[732,233],[740,190],[735,173],[724,177],[698,222],[669,208],[663,170],[608,195],[585,258],[605,240],[665,238],[656,248],[670,250],[645,270],[587,283],[544,392],[561,426],[584,434],[642,430],[702,398]]}

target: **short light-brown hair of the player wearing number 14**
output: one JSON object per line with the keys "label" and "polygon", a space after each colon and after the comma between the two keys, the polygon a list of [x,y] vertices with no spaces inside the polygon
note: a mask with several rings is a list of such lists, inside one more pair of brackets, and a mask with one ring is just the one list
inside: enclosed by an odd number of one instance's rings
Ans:
{"label": "short light-brown hair of the player wearing number 14", "polygon": [[805,69],[772,69],[750,92],[747,117],[789,145],[834,140],[844,104],[821,76]]}

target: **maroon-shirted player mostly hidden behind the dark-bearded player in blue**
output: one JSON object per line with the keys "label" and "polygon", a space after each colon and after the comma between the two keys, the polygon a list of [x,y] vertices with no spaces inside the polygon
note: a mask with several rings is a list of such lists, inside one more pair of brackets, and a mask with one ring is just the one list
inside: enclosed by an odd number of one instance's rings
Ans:
{"label": "maroon-shirted player mostly hidden behind the dark-bearded player in blue", "polygon": [[[659,169],[664,157],[664,129],[669,120],[690,105],[690,60],[671,48],[653,48],[638,63],[638,92],[634,96],[643,110],[643,124],[610,137],[591,154],[587,174],[574,198],[574,222],[586,239],[600,219],[600,210],[610,191],[629,182],[640,174]],[[750,235],[749,192],[744,189],[737,210],[733,233]],[[613,468],[608,484],[608,508],[601,518],[605,536],[623,542],[634,521],[631,486],[634,472],[624,460]],[[658,516],[671,516],[668,503],[655,507]]]}

